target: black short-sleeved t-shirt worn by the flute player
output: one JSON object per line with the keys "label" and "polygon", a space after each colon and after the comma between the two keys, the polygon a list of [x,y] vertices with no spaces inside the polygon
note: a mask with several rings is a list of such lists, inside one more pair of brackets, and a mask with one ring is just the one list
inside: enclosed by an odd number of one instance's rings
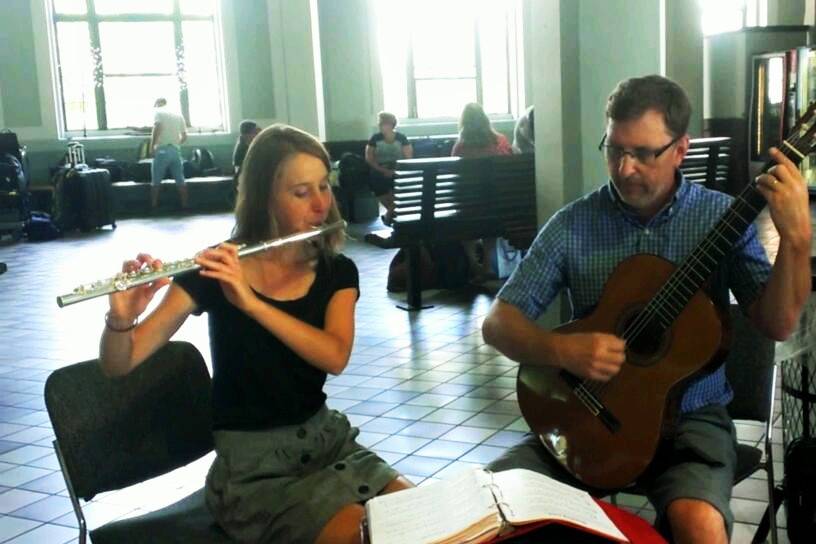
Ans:
{"label": "black short-sleeved t-shirt worn by the flute player", "polygon": [[[192,273],[175,283],[195,301],[196,315],[208,314],[215,429],[295,425],[323,406],[326,373],[230,304],[217,280]],[[348,257],[337,255],[319,259],[314,283],[302,298],[278,301],[256,294],[267,304],[323,328],[329,300],[349,287],[359,290],[357,267]]]}

